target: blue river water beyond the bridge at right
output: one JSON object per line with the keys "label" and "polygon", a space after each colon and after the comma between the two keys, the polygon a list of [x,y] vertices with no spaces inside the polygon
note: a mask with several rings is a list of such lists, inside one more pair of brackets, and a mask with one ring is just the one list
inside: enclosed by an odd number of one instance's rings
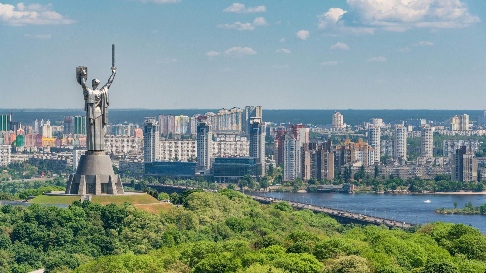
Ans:
{"label": "blue river water beyond the bridge at right", "polygon": [[[259,195],[263,195],[262,192]],[[486,204],[484,194],[391,194],[391,193],[318,193],[318,192],[271,192],[265,196],[288,199],[293,202],[329,206],[364,213],[372,216],[410,223],[451,222],[471,225],[486,234],[486,215],[435,214],[436,207],[459,208],[468,202],[472,205]],[[312,199],[311,199],[312,198]],[[429,199],[431,203],[423,203]],[[386,215],[386,217],[385,217]]]}

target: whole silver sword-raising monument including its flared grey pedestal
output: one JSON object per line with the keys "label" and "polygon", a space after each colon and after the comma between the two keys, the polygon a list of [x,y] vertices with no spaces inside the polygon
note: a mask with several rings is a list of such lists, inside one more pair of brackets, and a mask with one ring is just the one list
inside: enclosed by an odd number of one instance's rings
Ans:
{"label": "whole silver sword-raising monument including its flared grey pedestal", "polygon": [[104,152],[104,126],[108,124],[108,106],[110,88],[115,78],[115,45],[111,51],[112,74],[108,83],[98,89],[100,81],[91,81],[93,89],[86,85],[87,68],[76,68],[76,80],[83,88],[86,111],[86,146],[81,155],[76,173],[69,175],[66,194],[98,195],[124,194],[119,174],[115,174],[109,155]]}

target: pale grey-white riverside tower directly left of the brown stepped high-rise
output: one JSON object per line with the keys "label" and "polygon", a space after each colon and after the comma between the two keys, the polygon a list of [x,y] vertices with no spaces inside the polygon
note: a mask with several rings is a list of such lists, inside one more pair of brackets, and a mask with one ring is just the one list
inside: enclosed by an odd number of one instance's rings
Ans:
{"label": "pale grey-white riverside tower directly left of the brown stepped high-rise", "polygon": [[283,179],[294,180],[300,177],[300,141],[293,135],[283,135]]}

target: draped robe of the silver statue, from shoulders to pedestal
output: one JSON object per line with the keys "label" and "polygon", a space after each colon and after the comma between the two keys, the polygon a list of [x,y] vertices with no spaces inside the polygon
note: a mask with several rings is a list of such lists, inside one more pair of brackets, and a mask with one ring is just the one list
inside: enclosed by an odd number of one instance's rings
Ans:
{"label": "draped robe of the silver statue, from shoulders to pedestal", "polygon": [[88,151],[104,151],[104,125],[108,124],[108,88],[87,88],[83,92],[86,111],[86,146]]}

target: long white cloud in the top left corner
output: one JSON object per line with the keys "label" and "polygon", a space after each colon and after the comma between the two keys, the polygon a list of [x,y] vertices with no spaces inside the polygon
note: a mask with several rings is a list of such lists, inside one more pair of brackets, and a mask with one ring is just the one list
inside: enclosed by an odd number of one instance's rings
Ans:
{"label": "long white cloud in the top left corner", "polygon": [[52,4],[30,4],[28,6],[18,3],[17,6],[0,3],[0,22],[9,25],[58,25],[72,24],[70,20],[52,10]]}

